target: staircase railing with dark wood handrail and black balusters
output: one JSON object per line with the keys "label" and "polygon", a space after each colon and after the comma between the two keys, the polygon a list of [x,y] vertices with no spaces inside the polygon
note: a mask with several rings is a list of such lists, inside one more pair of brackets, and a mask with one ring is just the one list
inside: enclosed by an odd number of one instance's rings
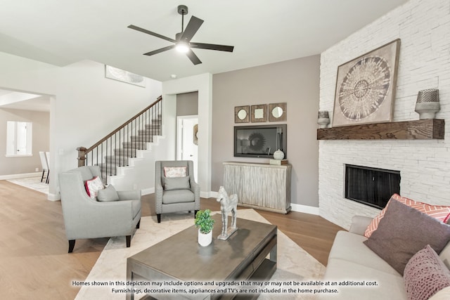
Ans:
{"label": "staircase railing with dark wood handrail and black balusters", "polygon": [[102,178],[117,175],[117,166],[129,165],[129,157],[136,157],[136,150],[146,149],[153,136],[161,135],[162,97],[131,117],[89,148],[78,147],[78,167],[101,167]]}

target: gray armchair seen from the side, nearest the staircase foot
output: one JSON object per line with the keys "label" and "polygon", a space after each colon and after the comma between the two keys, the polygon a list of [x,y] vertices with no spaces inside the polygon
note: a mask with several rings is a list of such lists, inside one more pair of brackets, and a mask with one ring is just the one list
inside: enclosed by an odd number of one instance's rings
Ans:
{"label": "gray armchair seen from the side, nearest the staircase foot", "polygon": [[141,191],[117,191],[119,200],[98,202],[86,193],[84,182],[98,176],[98,166],[85,166],[59,174],[59,186],[65,233],[69,253],[75,240],[124,235],[127,247],[131,244],[134,228],[141,222]]}

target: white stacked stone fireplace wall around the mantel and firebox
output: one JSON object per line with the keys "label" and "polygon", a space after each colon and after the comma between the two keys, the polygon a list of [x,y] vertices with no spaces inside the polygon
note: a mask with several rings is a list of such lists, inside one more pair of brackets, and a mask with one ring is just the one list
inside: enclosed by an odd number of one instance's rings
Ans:
{"label": "white stacked stone fireplace wall around the mantel and firebox", "polygon": [[344,165],[401,171],[400,190],[432,204],[450,205],[450,1],[410,0],[321,53],[320,110],[333,116],[338,66],[401,39],[393,121],[418,119],[421,89],[439,89],[445,139],[429,141],[320,141],[319,211],[349,228],[352,216],[379,209],[344,198]]}

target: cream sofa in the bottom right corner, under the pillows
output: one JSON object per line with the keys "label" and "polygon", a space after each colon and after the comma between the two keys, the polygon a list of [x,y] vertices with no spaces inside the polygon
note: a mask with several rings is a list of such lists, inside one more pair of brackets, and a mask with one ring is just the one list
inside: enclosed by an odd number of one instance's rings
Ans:
{"label": "cream sofa in the bottom right corner, under the pillows", "polygon": [[[367,240],[364,231],[371,221],[371,218],[365,216],[354,216],[349,232],[338,232],[328,256],[323,281],[345,285],[323,286],[338,289],[338,293],[321,293],[319,299],[407,299],[403,277],[363,243]],[[449,268],[450,242],[439,257]],[[365,286],[354,285],[355,282],[362,281]],[[373,282],[377,285],[371,285]],[[450,299],[450,287],[442,289],[430,298],[430,300],[443,299]]]}

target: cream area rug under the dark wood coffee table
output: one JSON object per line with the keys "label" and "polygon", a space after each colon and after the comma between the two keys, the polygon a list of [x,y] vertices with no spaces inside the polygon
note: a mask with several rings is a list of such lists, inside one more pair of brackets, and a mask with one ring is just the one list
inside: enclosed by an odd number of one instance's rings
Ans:
{"label": "cream area rug under the dark wood coffee table", "polygon": [[[253,209],[238,210],[238,218],[269,223]],[[131,238],[131,247],[125,247],[124,237],[112,237],[86,280],[84,282],[72,282],[72,285],[82,286],[75,299],[125,299],[125,294],[113,293],[111,289],[114,287],[113,282],[117,280],[127,281],[127,258],[192,225],[193,217],[191,214],[166,214],[163,216],[161,223],[156,221],[156,216],[143,217],[141,228],[136,230]],[[325,267],[319,261],[316,261],[314,257],[278,230],[277,270],[272,276],[271,282],[320,280],[324,272]],[[110,282],[113,286],[93,286],[94,282]],[[89,286],[84,285],[86,283],[89,283]],[[139,298],[139,296],[135,297],[135,299]],[[179,297],[173,296],[169,299],[179,299]],[[311,296],[295,293],[267,293],[261,294],[258,299],[311,299]]]}

